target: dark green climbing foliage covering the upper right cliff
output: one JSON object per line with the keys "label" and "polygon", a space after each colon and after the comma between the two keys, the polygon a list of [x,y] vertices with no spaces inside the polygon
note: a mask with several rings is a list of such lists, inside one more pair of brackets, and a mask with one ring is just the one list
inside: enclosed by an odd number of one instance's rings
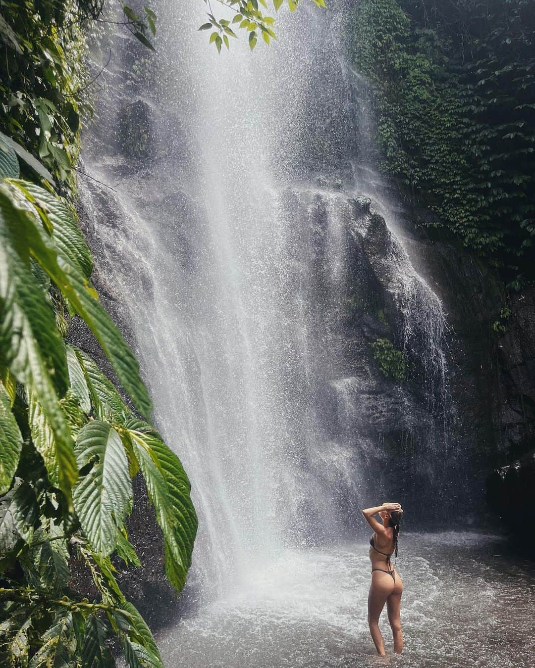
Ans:
{"label": "dark green climbing foliage covering the upper right cliff", "polygon": [[532,273],[534,0],[362,0],[381,168],[469,248]]}

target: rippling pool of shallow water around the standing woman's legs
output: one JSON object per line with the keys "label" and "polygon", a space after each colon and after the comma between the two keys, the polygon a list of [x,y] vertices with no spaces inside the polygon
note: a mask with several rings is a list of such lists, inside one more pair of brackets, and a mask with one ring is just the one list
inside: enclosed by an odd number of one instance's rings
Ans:
{"label": "rippling pool of shallow water around the standing woman's legs", "polygon": [[169,667],[282,668],[532,667],[535,568],[494,536],[407,534],[405,651],[375,655],[366,623],[370,581],[362,542],[288,551],[258,565],[239,589],[183,619],[158,638]]}

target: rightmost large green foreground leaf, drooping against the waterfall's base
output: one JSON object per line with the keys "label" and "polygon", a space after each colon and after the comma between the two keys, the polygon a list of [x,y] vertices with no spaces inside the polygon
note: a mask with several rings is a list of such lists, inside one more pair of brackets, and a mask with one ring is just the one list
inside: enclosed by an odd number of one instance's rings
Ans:
{"label": "rightmost large green foreground leaf, drooping against the waterfall's base", "polygon": [[157,432],[146,423],[132,421],[126,424],[126,429],[163,531],[165,572],[173,587],[181,591],[197,534],[189,480],[179,458],[154,436]]}

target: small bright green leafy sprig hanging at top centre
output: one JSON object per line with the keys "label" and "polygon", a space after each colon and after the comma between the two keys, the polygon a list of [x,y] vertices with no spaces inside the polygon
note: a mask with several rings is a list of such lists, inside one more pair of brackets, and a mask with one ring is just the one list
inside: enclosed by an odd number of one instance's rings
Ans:
{"label": "small bright green leafy sprig hanging at top centre", "polygon": [[[206,0],[205,0],[206,1]],[[268,16],[263,14],[258,5],[261,5],[265,9],[268,9],[267,2],[265,0],[216,0],[223,7],[230,9],[234,12],[232,20],[221,19],[215,17],[212,13],[212,9],[209,5],[210,11],[207,12],[208,23],[203,23],[199,30],[212,30],[209,43],[215,45],[218,53],[221,53],[221,47],[223,44],[230,48],[229,37],[237,38],[236,33],[231,28],[231,25],[236,30],[243,30],[247,33],[247,40],[249,42],[249,48],[251,51],[254,49],[257,43],[258,36],[261,35],[263,41],[266,44],[269,44],[272,39],[277,39],[276,34],[273,30],[273,25],[275,23],[275,17]],[[322,7],[325,9],[326,4],[325,0],[312,0],[316,7]],[[288,0],[288,7],[290,11],[295,11],[299,0]],[[284,4],[284,0],[273,0],[273,6],[275,11],[278,11],[280,7]]]}

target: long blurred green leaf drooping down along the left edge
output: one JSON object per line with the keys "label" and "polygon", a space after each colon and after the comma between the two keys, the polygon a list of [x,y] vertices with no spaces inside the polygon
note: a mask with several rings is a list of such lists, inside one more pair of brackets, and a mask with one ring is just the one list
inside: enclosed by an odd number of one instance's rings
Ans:
{"label": "long blurred green leaf drooping down along the left edge", "polygon": [[15,206],[11,191],[0,185],[0,356],[38,398],[54,430],[59,483],[70,500],[78,472],[58,397],[68,387],[66,350],[54,311],[30,269],[29,251],[39,238],[33,216]]}

